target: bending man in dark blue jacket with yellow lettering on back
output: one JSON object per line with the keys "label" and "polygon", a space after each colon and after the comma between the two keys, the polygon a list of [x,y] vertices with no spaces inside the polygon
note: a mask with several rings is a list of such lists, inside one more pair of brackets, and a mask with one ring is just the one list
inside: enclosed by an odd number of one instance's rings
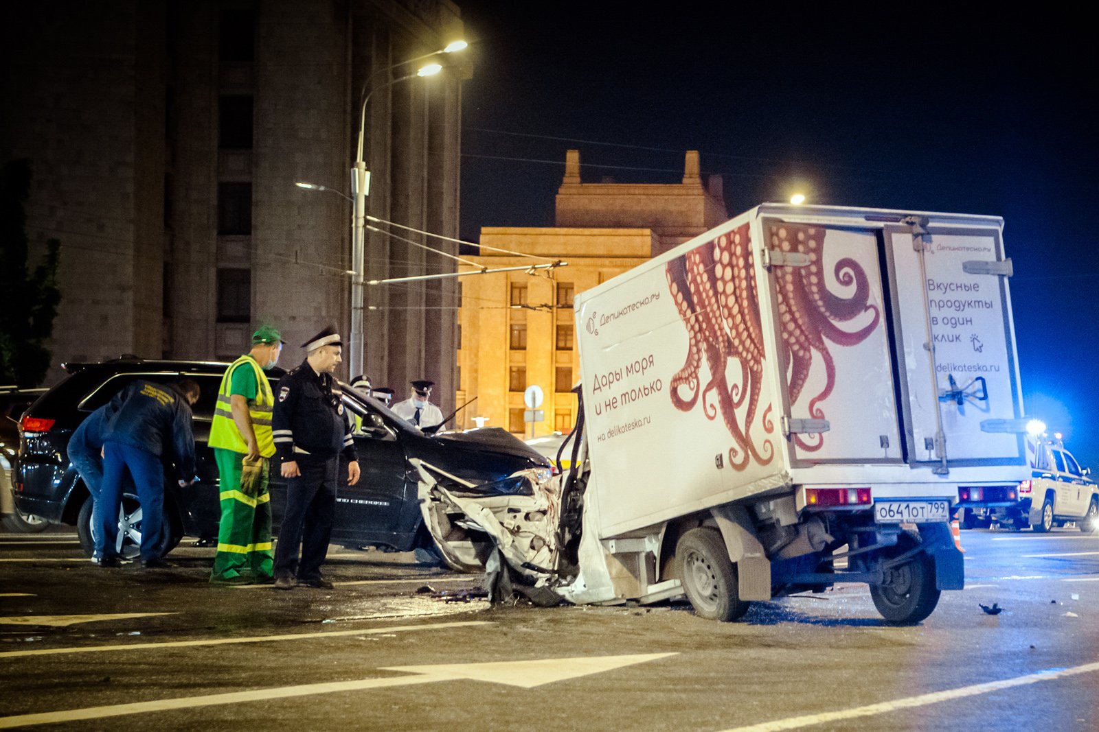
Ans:
{"label": "bending man in dark blue jacket with yellow lettering on back", "polygon": [[141,502],[141,565],[144,568],[169,566],[159,556],[157,544],[164,520],[164,466],[162,458],[171,457],[180,474],[180,484],[195,477],[195,436],[191,433],[191,405],[199,399],[199,385],[185,379],[170,386],[135,381],[111,399],[116,412],[103,436],[103,484],[100,526],[103,556],[99,565],[119,566],[118,515],[122,502],[122,476],[129,472],[137,486]]}

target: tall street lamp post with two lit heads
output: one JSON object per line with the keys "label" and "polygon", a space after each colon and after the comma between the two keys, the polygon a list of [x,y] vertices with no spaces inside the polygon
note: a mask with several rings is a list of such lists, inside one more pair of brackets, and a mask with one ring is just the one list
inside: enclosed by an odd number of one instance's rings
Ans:
{"label": "tall street lamp post with two lit heads", "polygon": [[[457,50],[462,50],[465,47],[465,41],[455,41],[454,43],[448,44],[445,48],[431,54],[425,54],[423,56],[418,56],[417,58],[411,58],[400,64],[395,64],[382,71],[390,71],[395,68],[423,60],[425,58],[431,58],[433,56],[439,56],[441,54],[452,54]],[[363,282],[366,279],[366,196],[369,195],[370,192],[370,171],[366,169],[366,160],[363,154],[363,143],[366,137],[366,103],[370,101],[370,97],[374,92],[379,89],[384,89],[385,87],[389,87],[408,79],[415,79],[417,77],[434,76],[442,70],[443,67],[439,64],[428,64],[426,66],[421,67],[415,74],[398,77],[391,81],[387,81],[384,85],[370,89],[369,93],[366,92],[366,86],[364,85],[363,106],[359,111],[358,123],[358,147],[356,150],[355,164],[351,169],[351,190],[355,209],[351,227],[352,270],[354,270],[354,274],[352,275],[351,297],[351,353],[347,358],[347,368],[352,378],[363,373],[363,350],[366,345],[365,324],[363,317]],[[369,79],[367,82],[369,82]]]}

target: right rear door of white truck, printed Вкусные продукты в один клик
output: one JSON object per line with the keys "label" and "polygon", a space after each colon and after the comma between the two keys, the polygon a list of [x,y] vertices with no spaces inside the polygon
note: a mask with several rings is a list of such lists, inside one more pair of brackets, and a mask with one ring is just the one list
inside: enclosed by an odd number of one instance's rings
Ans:
{"label": "right rear door of white truck, printed \u0412\u043a\u0443\u0441\u043d\u044b\u0435 \u043f\u0440\u043e\u0434\u0443\u043a\u0442\u044b \u0432 \u043e\u0434\u0438\u043d \u043a\u043b\u0438\u043a", "polygon": [[999,226],[885,228],[910,462],[1025,464]]}

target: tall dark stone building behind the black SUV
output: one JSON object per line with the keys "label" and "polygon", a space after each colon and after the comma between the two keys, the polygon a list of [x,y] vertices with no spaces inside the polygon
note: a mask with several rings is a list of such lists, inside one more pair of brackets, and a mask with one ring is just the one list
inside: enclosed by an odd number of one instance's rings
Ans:
{"label": "tall dark stone building behind the black SUV", "polygon": [[[62,241],[55,362],[230,358],[271,323],[292,367],[328,323],[348,334],[351,203],[295,182],[351,193],[364,87],[367,213],[457,236],[469,68],[440,55],[440,75],[390,83],[414,74],[402,61],[462,37],[448,0],[106,0],[5,15],[0,160],[31,160],[32,246]],[[368,280],[449,261],[376,232],[366,245]],[[376,384],[426,376],[454,393],[456,324],[439,306],[455,301],[447,280],[368,289]]]}

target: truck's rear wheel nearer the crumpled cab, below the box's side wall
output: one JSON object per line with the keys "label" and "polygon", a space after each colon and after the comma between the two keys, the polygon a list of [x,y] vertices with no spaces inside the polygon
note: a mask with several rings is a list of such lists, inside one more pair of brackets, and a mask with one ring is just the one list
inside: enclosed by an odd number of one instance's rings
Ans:
{"label": "truck's rear wheel nearer the crumpled cab, below the box's side wall", "polygon": [[695,613],[729,622],[748,610],[736,589],[736,567],[717,529],[691,529],[676,544],[679,581]]}

